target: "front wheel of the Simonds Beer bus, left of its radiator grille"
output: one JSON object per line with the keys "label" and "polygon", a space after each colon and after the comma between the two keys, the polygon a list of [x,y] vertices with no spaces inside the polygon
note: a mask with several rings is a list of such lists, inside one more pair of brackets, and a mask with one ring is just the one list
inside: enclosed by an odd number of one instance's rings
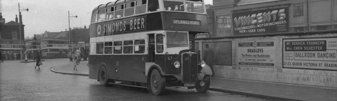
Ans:
{"label": "front wheel of the Simonds Beer bus, left of its radiator grille", "polygon": [[165,77],[162,76],[156,69],[154,69],[151,73],[150,84],[154,95],[162,95],[164,93],[166,86]]}

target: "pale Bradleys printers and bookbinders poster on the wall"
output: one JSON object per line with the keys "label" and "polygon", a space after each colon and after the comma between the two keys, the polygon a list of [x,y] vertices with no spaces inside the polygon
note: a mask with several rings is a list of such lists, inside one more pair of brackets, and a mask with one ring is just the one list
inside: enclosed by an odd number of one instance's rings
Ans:
{"label": "pale Bradleys printers and bookbinders poster on the wall", "polygon": [[237,41],[238,65],[275,67],[276,40]]}

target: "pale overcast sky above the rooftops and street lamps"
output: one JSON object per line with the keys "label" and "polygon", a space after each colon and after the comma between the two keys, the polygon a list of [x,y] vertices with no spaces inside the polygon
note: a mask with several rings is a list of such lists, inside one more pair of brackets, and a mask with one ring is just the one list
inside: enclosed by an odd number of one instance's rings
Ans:
{"label": "pale overcast sky above the rooftops and street lamps", "polygon": [[[22,22],[25,25],[25,37],[33,37],[45,31],[61,32],[68,30],[68,11],[70,28],[90,25],[91,12],[100,4],[116,0],[0,0],[0,12],[5,23],[19,18],[19,3]],[[213,4],[212,0],[205,0],[205,4]]]}

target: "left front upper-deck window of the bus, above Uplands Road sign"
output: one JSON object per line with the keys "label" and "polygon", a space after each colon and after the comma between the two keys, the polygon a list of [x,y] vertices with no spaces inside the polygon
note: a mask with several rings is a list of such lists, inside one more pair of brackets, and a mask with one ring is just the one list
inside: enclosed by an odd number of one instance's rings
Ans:
{"label": "left front upper-deck window of the bus, above Uplands Road sign", "polygon": [[180,1],[163,1],[164,9],[168,11],[184,11],[184,2]]}

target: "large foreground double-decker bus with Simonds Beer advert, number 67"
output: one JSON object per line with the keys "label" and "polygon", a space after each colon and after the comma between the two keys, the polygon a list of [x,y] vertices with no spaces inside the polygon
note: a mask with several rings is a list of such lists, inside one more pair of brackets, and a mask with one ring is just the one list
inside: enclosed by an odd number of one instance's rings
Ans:
{"label": "large foreground double-decker bus with Simonds Beer advert, number 67", "polygon": [[91,18],[89,78],[102,86],[144,87],[155,95],[165,86],[206,92],[212,71],[194,52],[194,36],[208,31],[206,20],[204,0],[99,5]]}

